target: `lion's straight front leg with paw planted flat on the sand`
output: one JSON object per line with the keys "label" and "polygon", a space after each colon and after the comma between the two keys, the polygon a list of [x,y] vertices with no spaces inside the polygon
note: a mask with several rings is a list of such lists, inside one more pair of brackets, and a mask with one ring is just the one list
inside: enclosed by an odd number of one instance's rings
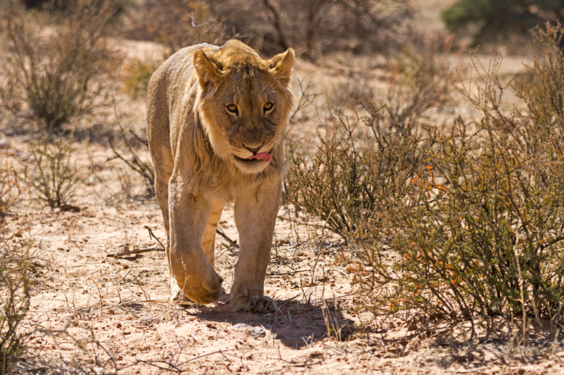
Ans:
{"label": "lion's straight front leg with paw planted flat on the sand", "polygon": [[235,201],[240,252],[230,293],[233,311],[276,311],[276,302],[264,296],[264,278],[280,200],[280,181],[273,181]]}

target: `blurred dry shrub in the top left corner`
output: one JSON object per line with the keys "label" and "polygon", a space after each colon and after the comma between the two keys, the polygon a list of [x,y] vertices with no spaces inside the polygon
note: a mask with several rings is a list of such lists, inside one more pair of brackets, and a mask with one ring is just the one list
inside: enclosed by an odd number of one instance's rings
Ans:
{"label": "blurred dry shrub in the top left corner", "polygon": [[1,18],[8,56],[0,65],[1,106],[56,129],[106,103],[119,58],[108,45],[114,1],[74,0],[66,11],[25,11]]}

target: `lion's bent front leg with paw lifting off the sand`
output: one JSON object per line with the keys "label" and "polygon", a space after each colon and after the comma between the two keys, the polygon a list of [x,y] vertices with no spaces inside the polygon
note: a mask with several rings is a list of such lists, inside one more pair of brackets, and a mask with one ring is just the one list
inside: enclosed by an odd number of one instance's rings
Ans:
{"label": "lion's bent front leg with paw lifting off the sand", "polygon": [[[223,281],[202,249],[202,236],[211,211],[212,203],[202,194],[190,193],[185,183],[171,180],[168,186],[168,264],[180,291],[197,303],[217,300]],[[173,289],[174,279],[171,283]]]}

